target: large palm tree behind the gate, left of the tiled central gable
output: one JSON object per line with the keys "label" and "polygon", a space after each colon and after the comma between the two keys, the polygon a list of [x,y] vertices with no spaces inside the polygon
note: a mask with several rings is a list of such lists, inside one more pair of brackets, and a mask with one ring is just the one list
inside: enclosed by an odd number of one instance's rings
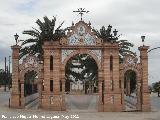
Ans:
{"label": "large palm tree behind the gate, left of the tiled central gable", "polygon": [[61,37],[65,36],[65,31],[60,29],[63,22],[55,29],[56,18],[53,16],[53,19],[48,19],[47,16],[43,17],[44,22],[40,19],[36,21],[36,24],[39,26],[39,29],[33,28],[32,30],[25,30],[23,34],[31,36],[31,38],[26,39],[22,42],[22,48],[20,49],[20,58],[27,54],[37,55],[39,58],[42,58],[43,49],[42,45],[45,40],[56,41]]}

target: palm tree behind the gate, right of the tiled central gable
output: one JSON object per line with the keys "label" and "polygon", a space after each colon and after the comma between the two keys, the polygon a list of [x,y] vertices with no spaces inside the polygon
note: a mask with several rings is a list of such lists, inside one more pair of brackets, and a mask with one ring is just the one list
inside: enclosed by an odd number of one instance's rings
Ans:
{"label": "palm tree behind the gate, right of the tiled central gable", "polygon": [[120,46],[120,49],[119,49],[120,63],[123,62],[123,57],[126,54],[135,55],[135,53],[132,52],[130,49],[131,47],[134,46],[132,43],[128,42],[127,40],[119,40],[118,38],[121,35],[117,35],[118,31],[116,29],[113,31],[113,34],[111,34],[111,32],[112,32],[111,25],[109,25],[107,29],[104,26],[102,26],[102,28],[100,30],[93,29],[93,32],[95,32],[97,37],[101,38],[105,43],[106,42],[110,42],[110,43],[117,42],[119,44],[119,46]]}

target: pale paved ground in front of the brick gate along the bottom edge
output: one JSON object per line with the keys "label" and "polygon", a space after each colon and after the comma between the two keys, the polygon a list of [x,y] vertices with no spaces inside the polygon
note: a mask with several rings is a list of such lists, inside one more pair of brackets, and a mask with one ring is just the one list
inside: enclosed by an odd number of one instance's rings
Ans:
{"label": "pale paved ground in front of the brick gate along the bottom edge", "polygon": [[[73,96],[67,96],[72,99],[75,99]],[[72,105],[75,107],[78,103],[80,103],[80,96],[77,96],[79,99],[79,102],[72,103]],[[45,111],[45,110],[31,110],[31,109],[9,109],[6,105],[8,103],[9,93],[0,93],[0,120],[23,120],[23,118],[28,117],[29,120],[38,119],[38,120],[160,120],[160,98],[158,98],[155,94],[151,95],[151,104],[152,104],[152,110],[153,112],[95,112],[95,111],[74,111],[73,109],[71,111],[66,112],[55,112],[55,111]],[[87,102],[85,102],[85,96],[83,97],[83,103],[82,105],[80,103],[81,107],[78,108],[88,108],[93,109],[92,107],[89,107]],[[91,100],[91,103],[94,103],[94,96],[90,96],[89,99]],[[74,108],[77,109],[77,108]],[[31,118],[29,118],[31,117]],[[57,118],[55,118],[57,117]],[[76,118],[77,117],[77,118]],[[79,118],[78,118],[79,117]]]}

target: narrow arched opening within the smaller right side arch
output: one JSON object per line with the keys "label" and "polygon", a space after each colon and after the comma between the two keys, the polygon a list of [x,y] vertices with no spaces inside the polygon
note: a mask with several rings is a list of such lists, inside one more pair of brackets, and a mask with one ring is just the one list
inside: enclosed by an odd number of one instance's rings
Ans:
{"label": "narrow arched opening within the smaller right side arch", "polygon": [[133,70],[124,74],[124,102],[126,110],[137,109],[137,75]]}

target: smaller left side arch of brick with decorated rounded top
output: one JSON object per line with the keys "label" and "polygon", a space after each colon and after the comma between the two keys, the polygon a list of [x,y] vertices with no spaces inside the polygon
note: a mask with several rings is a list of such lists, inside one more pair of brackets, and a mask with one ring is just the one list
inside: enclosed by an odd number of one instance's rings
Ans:
{"label": "smaller left side arch of brick with decorated rounded top", "polygon": [[[25,107],[33,99],[38,99],[39,105],[41,105],[41,82],[42,82],[42,68],[43,65],[38,62],[38,59],[29,55],[23,59],[22,64],[19,65],[19,80],[18,80],[18,90],[20,92],[20,106]],[[25,74],[34,71],[37,74],[37,79],[35,81],[37,92],[29,96],[25,96]]]}

